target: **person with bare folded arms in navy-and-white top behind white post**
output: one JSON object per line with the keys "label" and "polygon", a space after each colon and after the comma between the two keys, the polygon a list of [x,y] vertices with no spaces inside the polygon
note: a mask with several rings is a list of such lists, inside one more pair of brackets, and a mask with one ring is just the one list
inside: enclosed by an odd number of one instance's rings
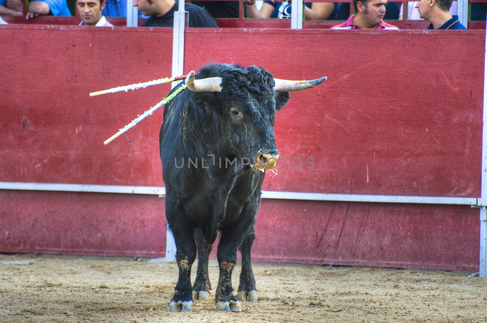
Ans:
{"label": "person with bare folded arms in navy-and-white top behind white post", "polygon": [[[335,5],[331,2],[304,3],[305,20],[326,20],[334,12]],[[291,18],[291,1],[272,0],[264,1],[261,10],[257,9],[255,1],[247,2],[247,18]]]}

